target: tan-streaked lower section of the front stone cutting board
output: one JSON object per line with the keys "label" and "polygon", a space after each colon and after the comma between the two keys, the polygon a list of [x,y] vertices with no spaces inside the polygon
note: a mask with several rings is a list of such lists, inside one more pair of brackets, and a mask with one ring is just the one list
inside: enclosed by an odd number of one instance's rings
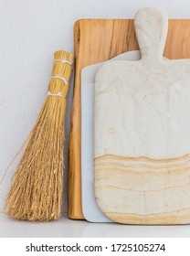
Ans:
{"label": "tan-streaked lower section of the front stone cutting board", "polygon": [[95,194],[111,219],[129,224],[190,222],[190,155],[94,159]]}

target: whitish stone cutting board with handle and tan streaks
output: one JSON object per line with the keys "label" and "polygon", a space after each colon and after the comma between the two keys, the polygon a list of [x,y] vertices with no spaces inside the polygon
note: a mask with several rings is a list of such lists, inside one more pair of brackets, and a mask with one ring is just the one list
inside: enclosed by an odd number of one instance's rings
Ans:
{"label": "whitish stone cutting board with handle and tan streaks", "polygon": [[135,16],[137,61],[100,67],[95,80],[95,195],[110,219],[190,223],[190,59],[163,58],[167,16]]}

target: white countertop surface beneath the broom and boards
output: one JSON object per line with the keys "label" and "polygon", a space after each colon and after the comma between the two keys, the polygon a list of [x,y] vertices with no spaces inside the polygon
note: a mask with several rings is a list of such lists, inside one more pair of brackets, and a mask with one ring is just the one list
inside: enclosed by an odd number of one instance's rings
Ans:
{"label": "white countertop surface beneath the broom and boards", "polygon": [[133,226],[116,223],[90,223],[65,215],[47,223],[8,219],[0,214],[0,238],[188,238],[190,225]]}

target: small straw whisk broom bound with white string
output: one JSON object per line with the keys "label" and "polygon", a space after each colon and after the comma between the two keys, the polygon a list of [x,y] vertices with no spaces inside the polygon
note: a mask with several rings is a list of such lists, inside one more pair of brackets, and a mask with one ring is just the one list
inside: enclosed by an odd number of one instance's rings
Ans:
{"label": "small straw whisk broom bound with white string", "polygon": [[67,51],[54,54],[47,99],[29,134],[5,202],[5,212],[11,218],[48,221],[60,216],[64,118],[72,61]]}

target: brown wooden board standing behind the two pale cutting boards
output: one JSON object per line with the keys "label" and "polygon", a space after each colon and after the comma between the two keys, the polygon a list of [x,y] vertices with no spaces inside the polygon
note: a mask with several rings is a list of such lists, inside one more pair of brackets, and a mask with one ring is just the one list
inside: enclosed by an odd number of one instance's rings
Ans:
{"label": "brown wooden board standing behind the two pale cutting boards", "polygon": [[[69,138],[69,218],[84,219],[80,172],[80,72],[90,64],[139,49],[133,19],[81,19],[74,26],[76,72]],[[170,19],[164,57],[190,59],[190,20]]]}

